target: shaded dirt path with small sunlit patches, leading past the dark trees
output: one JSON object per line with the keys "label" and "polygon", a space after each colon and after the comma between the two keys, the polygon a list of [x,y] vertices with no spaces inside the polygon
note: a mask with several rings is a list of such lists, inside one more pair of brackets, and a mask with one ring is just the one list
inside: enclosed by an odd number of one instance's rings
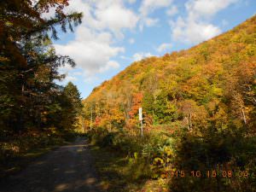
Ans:
{"label": "shaded dirt path with small sunlit patches, leading past the dark trees", "polygon": [[23,172],[0,182],[1,192],[98,192],[88,144],[73,144],[45,154]]}

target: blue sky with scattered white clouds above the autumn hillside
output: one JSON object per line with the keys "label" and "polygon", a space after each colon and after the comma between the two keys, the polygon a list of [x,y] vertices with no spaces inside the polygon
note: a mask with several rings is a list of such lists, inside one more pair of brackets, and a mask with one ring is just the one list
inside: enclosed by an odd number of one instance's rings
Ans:
{"label": "blue sky with scattered white clouds above the autumn hillside", "polygon": [[[83,12],[73,33],[59,33],[57,54],[77,66],[61,73],[85,98],[133,61],[188,49],[256,14],[255,0],[70,0],[66,12]],[[54,10],[49,12],[53,15]]]}

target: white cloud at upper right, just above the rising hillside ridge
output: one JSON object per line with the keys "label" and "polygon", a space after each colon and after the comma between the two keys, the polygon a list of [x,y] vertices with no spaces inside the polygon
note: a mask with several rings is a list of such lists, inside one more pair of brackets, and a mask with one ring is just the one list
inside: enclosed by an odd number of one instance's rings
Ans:
{"label": "white cloud at upper right, just above the rising hillside ridge", "polygon": [[172,38],[187,44],[198,44],[213,38],[221,30],[209,23],[218,11],[227,8],[238,0],[189,0],[186,4],[187,18],[178,17],[171,21]]}

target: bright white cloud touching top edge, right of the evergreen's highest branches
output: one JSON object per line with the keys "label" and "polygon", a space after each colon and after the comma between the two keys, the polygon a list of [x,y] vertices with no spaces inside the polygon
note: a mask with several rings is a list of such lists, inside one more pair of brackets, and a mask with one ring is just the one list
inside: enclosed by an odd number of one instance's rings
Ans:
{"label": "bright white cloud touching top edge, right of the evergreen's highest branches", "polygon": [[83,12],[83,24],[96,30],[109,30],[122,37],[122,29],[137,26],[138,16],[121,0],[71,1],[66,12]]}

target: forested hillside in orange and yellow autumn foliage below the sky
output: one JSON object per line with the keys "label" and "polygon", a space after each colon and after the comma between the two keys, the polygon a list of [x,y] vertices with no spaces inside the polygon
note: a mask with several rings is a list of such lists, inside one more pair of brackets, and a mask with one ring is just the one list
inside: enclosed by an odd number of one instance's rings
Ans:
{"label": "forested hillside in orange and yellow autumn foliage below the sky", "polygon": [[[256,127],[256,16],[191,49],[137,61],[84,100],[85,125]],[[91,121],[92,118],[92,121]],[[254,127],[254,128],[253,128]],[[255,131],[255,130],[254,130]]]}

